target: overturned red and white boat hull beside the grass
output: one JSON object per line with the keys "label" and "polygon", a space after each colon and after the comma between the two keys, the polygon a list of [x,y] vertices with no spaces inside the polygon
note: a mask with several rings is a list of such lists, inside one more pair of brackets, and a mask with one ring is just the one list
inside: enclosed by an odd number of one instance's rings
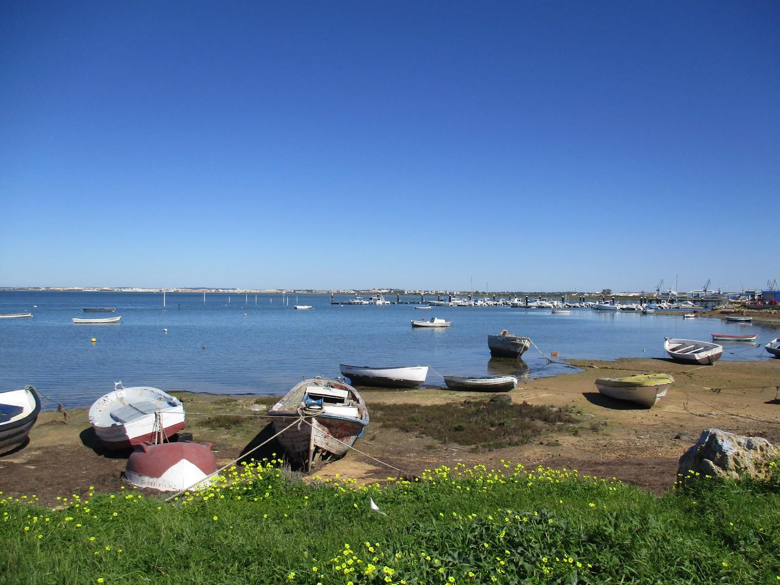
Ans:
{"label": "overturned red and white boat hull beside the grass", "polygon": [[205,487],[217,472],[211,443],[139,443],[127,459],[125,479],[139,488],[181,491]]}

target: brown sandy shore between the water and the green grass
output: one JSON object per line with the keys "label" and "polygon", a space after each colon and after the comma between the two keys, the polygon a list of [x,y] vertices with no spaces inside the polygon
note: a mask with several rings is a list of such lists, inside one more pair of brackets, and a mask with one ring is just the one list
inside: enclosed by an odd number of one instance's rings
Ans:
{"label": "brown sandy shore between the water and the green grass", "polygon": [[[693,367],[659,359],[609,361],[571,360],[581,371],[523,381],[507,393],[514,402],[572,406],[585,421],[576,433],[561,432],[531,445],[505,449],[473,449],[442,444],[424,435],[402,433],[372,423],[356,448],[344,459],[316,470],[321,477],[383,480],[418,474],[441,464],[466,463],[500,466],[500,460],[526,466],[575,468],[580,473],[617,477],[651,491],[672,487],[679,457],[705,428],[721,428],[780,442],[780,360],[725,361]],[[665,398],[651,410],[634,408],[600,394],[596,378],[659,371],[675,377]],[[371,390],[360,388],[371,404],[448,405],[464,399],[486,399],[484,394],[451,392],[443,388]],[[267,418],[253,419],[239,429],[215,427],[215,414],[262,414],[273,401],[268,397],[181,395],[188,413],[187,431],[196,441],[213,443],[218,460],[227,463],[257,444]],[[254,409],[254,410],[252,410]],[[258,410],[259,409],[259,410]],[[0,458],[0,491],[4,495],[37,494],[42,502],[56,503],[57,495],[87,491],[118,491],[126,485],[121,473],[126,453],[105,453],[94,440],[87,410],[41,413],[30,432],[30,444]],[[211,420],[211,426],[205,422]],[[242,419],[243,420],[243,419]],[[590,423],[587,421],[590,420]],[[254,441],[254,443],[253,443]],[[382,462],[382,463],[378,463]],[[392,466],[392,467],[391,467]]]}

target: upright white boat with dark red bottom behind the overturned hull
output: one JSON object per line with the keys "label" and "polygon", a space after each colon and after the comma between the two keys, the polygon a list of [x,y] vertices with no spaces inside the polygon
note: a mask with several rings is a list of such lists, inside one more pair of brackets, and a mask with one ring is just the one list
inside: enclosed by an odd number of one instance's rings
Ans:
{"label": "upright white boat with dark red bottom behind the overturned hull", "polygon": [[184,406],[159,388],[117,382],[90,407],[90,424],[108,449],[161,443],[184,428]]}

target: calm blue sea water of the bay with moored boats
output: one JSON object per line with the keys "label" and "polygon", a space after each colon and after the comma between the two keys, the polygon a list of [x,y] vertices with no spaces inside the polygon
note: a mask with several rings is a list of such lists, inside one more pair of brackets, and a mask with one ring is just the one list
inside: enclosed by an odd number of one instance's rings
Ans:
{"label": "calm blue sea water of the bay with moored boats", "polygon": [[[167,391],[278,395],[303,378],[338,376],[339,363],[429,364],[427,385],[442,385],[437,372],[539,377],[570,371],[545,365],[534,347],[521,362],[491,359],[487,335],[502,329],[529,336],[548,355],[602,360],[665,357],[665,336],[709,340],[713,332],[751,332],[765,343],[778,335],[756,324],[590,309],[569,315],[509,307],[423,311],[411,304],[331,305],[325,295],[292,295],[289,307],[281,295],[257,295],[256,303],[254,295],[214,293],[204,303],[202,294],[169,293],[166,301],[163,309],[161,293],[0,291],[0,314],[34,314],[0,319],[0,390],[31,384],[66,406],[89,405],[119,380]],[[294,310],[294,304],[314,308]],[[83,307],[116,312],[87,314]],[[118,325],[71,321],[120,315]],[[411,328],[411,319],[432,316],[452,319],[452,327]],[[762,347],[725,349],[725,360],[769,359]]]}

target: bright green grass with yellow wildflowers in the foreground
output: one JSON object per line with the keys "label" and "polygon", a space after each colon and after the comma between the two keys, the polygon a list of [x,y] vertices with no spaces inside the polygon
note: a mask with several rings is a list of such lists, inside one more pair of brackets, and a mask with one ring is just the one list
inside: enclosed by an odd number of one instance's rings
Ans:
{"label": "bright green grass with yellow wildflowers in the foreground", "polygon": [[[233,482],[231,484],[231,482]],[[0,583],[778,583],[780,481],[661,497],[572,471],[441,468],[359,488],[231,470],[176,504],[0,499]],[[387,516],[371,512],[374,499]],[[30,503],[33,502],[33,503]]]}

